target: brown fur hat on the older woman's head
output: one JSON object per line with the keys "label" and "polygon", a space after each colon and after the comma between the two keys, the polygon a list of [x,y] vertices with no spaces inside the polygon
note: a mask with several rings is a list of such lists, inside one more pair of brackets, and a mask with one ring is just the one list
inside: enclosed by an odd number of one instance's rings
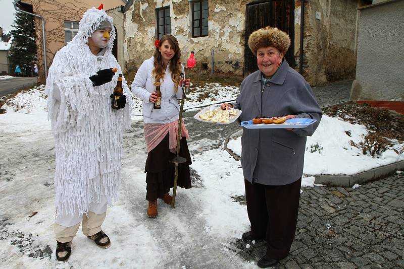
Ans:
{"label": "brown fur hat on the older woman's head", "polygon": [[265,27],[252,32],[248,37],[248,47],[257,56],[259,48],[273,46],[286,53],[290,46],[290,37],[278,28]]}

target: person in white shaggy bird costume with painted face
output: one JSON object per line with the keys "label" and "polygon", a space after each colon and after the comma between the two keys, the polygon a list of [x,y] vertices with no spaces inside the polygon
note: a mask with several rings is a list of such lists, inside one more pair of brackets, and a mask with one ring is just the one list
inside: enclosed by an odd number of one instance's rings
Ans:
{"label": "person in white shaggy bird costume with painted face", "polygon": [[58,51],[46,80],[48,118],[55,136],[58,260],[66,260],[80,223],[99,247],[111,241],[102,231],[107,205],[117,198],[122,132],[131,125],[132,99],[123,79],[122,109],[111,94],[121,67],[112,55],[113,19],[102,10],[84,13],[74,39]]}

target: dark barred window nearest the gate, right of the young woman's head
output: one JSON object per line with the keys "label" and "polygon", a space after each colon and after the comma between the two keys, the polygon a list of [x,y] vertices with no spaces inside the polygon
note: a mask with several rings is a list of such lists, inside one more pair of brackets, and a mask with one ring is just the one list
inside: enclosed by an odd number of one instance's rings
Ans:
{"label": "dark barred window nearest the gate, right of the young woman's head", "polygon": [[192,37],[208,36],[208,0],[191,2]]}

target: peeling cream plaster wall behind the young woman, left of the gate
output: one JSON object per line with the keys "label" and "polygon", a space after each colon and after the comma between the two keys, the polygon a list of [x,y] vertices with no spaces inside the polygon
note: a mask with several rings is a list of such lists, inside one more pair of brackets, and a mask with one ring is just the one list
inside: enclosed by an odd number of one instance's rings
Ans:
{"label": "peeling cream plaster wall behind the young woman, left of the gate", "polygon": [[[141,4],[140,4],[141,2]],[[198,69],[211,69],[214,50],[215,72],[242,75],[244,65],[245,5],[234,0],[209,2],[209,36],[192,38],[188,0],[135,0],[125,19],[126,70],[137,70],[151,57],[156,36],[156,8],[170,6],[171,33],[178,39],[181,61],[195,52]]]}

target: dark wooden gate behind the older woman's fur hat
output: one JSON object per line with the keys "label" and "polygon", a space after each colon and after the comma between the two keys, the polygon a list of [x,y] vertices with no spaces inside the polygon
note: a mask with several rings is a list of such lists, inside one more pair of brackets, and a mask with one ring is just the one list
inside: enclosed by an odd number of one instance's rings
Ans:
{"label": "dark wooden gate behind the older woman's fur hat", "polygon": [[245,12],[244,76],[258,70],[257,57],[248,47],[248,37],[266,26],[277,27],[289,35],[291,42],[285,58],[294,68],[294,0],[253,1]]}

